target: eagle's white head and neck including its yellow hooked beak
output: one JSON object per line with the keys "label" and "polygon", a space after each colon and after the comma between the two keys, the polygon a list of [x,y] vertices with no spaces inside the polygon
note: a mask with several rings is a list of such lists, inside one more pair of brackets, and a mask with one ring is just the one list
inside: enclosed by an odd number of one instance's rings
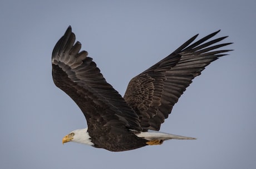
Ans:
{"label": "eagle's white head and neck including its yellow hooked beak", "polygon": [[85,129],[77,129],[74,131],[71,131],[70,134],[66,135],[62,139],[62,144],[65,144],[66,142],[78,142],[81,144],[86,144],[93,146],[93,142],[91,141],[91,137],[87,131],[88,128]]}

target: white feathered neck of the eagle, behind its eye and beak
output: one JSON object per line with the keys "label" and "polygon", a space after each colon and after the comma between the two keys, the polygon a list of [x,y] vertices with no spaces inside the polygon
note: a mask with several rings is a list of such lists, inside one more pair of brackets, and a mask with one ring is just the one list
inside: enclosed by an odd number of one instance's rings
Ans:
{"label": "white feathered neck of the eagle, behind its eye and beak", "polygon": [[93,146],[93,142],[91,141],[91,137],[88,133],[88,128],[85,129],[77,129],[75,131],[73,131],[75,133],[74,138],[73,138],[73,142],[78,142],[81,144],[86,144],[86,145],[90,145]]}

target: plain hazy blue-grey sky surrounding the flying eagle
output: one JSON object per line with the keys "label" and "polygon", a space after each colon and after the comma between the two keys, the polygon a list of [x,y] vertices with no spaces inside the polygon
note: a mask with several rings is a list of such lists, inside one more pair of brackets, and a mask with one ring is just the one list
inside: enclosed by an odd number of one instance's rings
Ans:
{"label": "plain hazy blue-grey sky surrounding the flying eagle", "polygon": [[[1,168],[255,168],[255,1],[0,2]],[[174,106],[161,131],[196,137],[126,152],[62,145],[87,126],[52,81],[51,54],[72,26],[106,80],[129,80],[186,40],[221,29],[234,42]]]}

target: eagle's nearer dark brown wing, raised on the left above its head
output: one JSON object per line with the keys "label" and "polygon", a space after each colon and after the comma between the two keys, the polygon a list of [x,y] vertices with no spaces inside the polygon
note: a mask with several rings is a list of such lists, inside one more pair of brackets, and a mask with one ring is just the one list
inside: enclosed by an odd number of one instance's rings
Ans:
{"label": "eagle's nearer dark brown wing, raised on the left above its head", "polygon": [[106,82],[87,52],[80,52],[81,43],[74,43],[75,34],[68,27],[52,52],[52,76],[82,110],[88,132],[105,134],[112,127],[141,130],[135,111]]}

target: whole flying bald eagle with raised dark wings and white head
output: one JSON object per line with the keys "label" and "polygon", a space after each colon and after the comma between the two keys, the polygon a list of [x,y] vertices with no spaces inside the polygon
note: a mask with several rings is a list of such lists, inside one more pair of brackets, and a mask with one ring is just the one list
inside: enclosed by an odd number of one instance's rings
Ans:
{"label": "whole flying bald eagle with raised dark wings and white head", "polygon": [[[185,137],[158,132],[181,94],[205,66],[227,55],[230,50],[216,44],[227,37],[210,40],[217,32],[191,44],[190,38],[173,53],[131,79],[122,97],[101,74],[88,53],[75,43],[68,27],[52,52],[52,76],[55,85],[69,95],[86,117],[88,127],[70,132],[62,143],[73,141],[126,151],[165,140]],[[206,42],[208,41],[208,42]]]}

